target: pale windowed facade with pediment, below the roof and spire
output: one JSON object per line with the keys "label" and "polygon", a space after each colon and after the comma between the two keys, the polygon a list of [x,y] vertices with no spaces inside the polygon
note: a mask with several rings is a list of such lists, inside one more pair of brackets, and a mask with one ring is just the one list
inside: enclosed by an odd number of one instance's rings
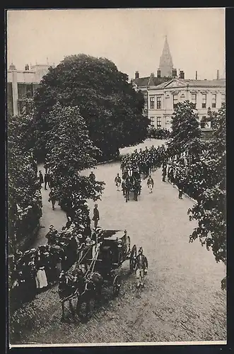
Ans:
{"label": "pale windowed facade with pediment, below the roof and spire", "polygon": [[201,129],[210,130],[211,122],[206,122],[207,112],[217,112],[226,101],[226,81],[172,79],[148,88],[148,118],[151,127],[171,130],[171,119],[175,105],[179,102],[194,103],[199,115]]}

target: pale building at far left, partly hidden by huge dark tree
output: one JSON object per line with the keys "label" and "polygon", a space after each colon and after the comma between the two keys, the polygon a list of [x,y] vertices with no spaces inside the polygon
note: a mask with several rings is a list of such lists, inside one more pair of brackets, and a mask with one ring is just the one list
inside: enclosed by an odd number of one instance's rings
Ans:
{"label": "pale building at far left, partly hidden by huge dark tree", "polygon": [[11,64],[7,71],[7,110],[8,115],[18,115],[26,109],[25,102],[33,100],[35,90],[40,84],[42,77],[48,72],[49,64],[36,64],[24,70],[17,70]]}

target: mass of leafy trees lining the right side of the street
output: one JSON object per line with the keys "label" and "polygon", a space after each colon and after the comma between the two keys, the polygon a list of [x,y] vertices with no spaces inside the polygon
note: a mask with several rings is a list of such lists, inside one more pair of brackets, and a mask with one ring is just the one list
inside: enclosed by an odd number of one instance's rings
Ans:
{"label": "mass of leafy trees lining the right side of the street", "polygon": [[189,241],[199,239],[217,262],[226,264],[226,108],[223,105],[218,113],[209,110],[208,115],[213,131],[211,139],[204,141],[192,103],[178,103],[168,143],[168,173],[173,183],[183,181],[184,193],[196,200],[188,215],[198,226]]}

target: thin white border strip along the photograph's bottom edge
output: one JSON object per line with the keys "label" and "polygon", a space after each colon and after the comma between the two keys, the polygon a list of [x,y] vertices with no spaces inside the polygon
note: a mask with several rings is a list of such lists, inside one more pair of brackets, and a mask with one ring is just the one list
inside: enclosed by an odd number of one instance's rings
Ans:
{"label": "thin white border strip along the photograph's bottom edge", "polygon": [[201,346],[226,345],[227,341],[200,341],[200,342],[127,342],[127,343],[67,343],[67,344],[23,344],[9,345],[9,348],[37,348],[37,347],[100,347],[100,346]]}

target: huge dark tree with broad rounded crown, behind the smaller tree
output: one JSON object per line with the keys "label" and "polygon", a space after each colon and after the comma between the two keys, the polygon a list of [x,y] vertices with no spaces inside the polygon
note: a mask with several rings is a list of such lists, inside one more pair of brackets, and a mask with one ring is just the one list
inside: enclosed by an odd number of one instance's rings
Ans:
{"label": "huge dark tree with broad rounded crown, behind the smaller tree", "polygon": [[110,60],[83,54],[65,57],[50,68],[35,94],[37,153],[45,154],[45,117],[56,103],[79,108],[103,159],[119,147],[143,141],[148,127],[142,115],[144,97],[127,80]]}

